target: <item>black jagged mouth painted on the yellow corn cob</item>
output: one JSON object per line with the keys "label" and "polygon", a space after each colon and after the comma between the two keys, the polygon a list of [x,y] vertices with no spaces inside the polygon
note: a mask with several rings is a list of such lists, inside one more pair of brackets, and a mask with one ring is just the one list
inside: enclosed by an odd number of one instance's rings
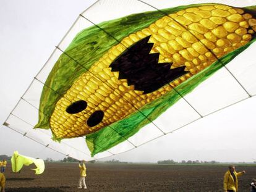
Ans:
{"label": "black jagged mouth painted on the yellow corn cob", "polygon": [[151,53],[150,36],[143,38],[122,52],[110,65],[112,72],[119,72],[118,79],[126,79],[134,90],[151,93],[176,78],[185,75],[185,67],[171,69],[173,63],[158,63],[160,53]]}

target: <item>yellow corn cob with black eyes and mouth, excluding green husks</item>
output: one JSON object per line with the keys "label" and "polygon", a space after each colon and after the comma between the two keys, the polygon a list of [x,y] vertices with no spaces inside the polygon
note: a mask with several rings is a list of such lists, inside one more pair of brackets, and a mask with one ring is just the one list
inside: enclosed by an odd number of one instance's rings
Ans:
{"label": "yellow corn cob with black eyes and mouth, excluding green husks", "polygon": [[54,103],[49,118],[54,137],[88,135],[129,118],[245,46],[255,32],[253,11],[222,4],[163,15],[122,38],[74,80]]}

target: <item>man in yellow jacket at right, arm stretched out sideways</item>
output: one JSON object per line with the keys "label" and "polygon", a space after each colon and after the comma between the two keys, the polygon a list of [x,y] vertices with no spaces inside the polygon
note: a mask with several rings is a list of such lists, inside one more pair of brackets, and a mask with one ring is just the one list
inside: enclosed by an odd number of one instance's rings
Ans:
{"label": "man in yellow jacket at right, arm stretched out sideways", "polygon": [[243,175],[245,171],[236,172],[234,165],[228,166],[228,171],[224,175],[223,189],[224,192],[237,192],[238,191],[238,180],[237,177]]}

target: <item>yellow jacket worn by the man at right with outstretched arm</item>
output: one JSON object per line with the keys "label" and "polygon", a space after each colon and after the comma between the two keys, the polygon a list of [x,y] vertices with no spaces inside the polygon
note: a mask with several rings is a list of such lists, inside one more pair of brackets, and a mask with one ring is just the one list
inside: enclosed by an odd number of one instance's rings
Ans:
{"label": "yellow jacket worn by the man at right with outstretched arm", "polygon": [[238,191],[238,180],[237,177],[243,175],[243,172],[236,172],[234,171],[234,175],[236,177],[236,183],[234,183],[234,178],[232,177],[230,171],[228,170],[224,175],[224,181],[223,181],[223,189],[224,191],[227,190],[233,190],[235,192]]}

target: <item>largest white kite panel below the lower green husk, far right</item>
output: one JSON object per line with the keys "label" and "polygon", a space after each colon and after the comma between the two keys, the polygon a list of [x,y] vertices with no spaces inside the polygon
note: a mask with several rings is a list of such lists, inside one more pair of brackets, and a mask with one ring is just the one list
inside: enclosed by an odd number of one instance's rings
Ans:
{"label": "largest white kite panel below the lower green husk, far right", "polygon": [[248,98],[228,70],[222,68],[184,98],[203,116]]}

